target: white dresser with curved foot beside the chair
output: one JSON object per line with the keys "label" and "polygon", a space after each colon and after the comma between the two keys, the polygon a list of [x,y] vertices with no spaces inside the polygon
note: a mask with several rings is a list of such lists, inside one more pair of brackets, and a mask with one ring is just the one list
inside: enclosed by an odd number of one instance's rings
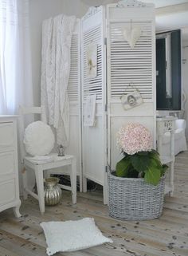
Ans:
{"label": "white dresser with curved foot beside the chair", "polygon": [[0,116],[0,211],[13,207],[20,217],[17,116]]}

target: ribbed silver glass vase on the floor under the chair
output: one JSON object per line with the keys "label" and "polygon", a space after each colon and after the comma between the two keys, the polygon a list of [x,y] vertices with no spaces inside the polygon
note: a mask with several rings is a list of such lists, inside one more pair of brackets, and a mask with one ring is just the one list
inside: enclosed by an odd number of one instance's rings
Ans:
{"label": "ribbed silver glass vase on the floor under the chair", "polygon": [[59,180],[55,177],[45,179],[45,205],[52,206],[60,202],[62,191],[58,186]]}

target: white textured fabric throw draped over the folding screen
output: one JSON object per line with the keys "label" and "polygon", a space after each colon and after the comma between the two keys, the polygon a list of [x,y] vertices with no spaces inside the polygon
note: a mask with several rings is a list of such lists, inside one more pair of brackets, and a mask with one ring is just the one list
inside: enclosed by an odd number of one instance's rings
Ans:
{"label": "white textured fabric throw draped over the folding screen", "polygon": [[69,144],[70,48],[76,17],[58,15],[42,25],[41,105],[57,131],[57,144]]}

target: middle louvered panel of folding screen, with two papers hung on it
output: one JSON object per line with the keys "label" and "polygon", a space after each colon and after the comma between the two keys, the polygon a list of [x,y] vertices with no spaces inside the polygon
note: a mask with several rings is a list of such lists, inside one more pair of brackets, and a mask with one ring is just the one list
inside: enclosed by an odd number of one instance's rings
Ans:
{"label": "middle louvered panel of folding screen, with two papers hung on it", "polygon": [[[106,133],[106,49],[104,6],[91,7],[82,18],[82,152],[84,190],[86,179],[91,179],[106,189],[105,167],[107,164],[107,133]],[[88,77],[87,47],[95,44],[96,77]],[[96,124],[92,127],[84,126],[86,100],[90,95],[96,95]],[[106,194],[105,194],[106,195]],[[104,197],[105,197],[104,195]],[[105,201],[105,199],[104,199]]]}

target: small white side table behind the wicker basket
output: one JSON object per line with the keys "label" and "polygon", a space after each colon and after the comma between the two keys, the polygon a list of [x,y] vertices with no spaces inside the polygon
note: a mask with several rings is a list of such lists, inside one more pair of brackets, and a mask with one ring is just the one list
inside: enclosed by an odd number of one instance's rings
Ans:
{"label": "small white side table behind the wicker basket", "polygon": [[[170,179],[165,184],[165,194],[173,195],[174,191],[174,125],[177,118],[174,116],[157,117],[157,150],[163,164],[170,165]],[[170,155],[162,155],[163,134],[170,132]]]}

